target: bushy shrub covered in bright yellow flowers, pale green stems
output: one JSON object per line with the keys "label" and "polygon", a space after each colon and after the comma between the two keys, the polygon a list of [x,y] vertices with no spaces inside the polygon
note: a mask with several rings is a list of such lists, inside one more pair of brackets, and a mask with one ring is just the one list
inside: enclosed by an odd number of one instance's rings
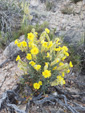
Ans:
{"label": "bushy shrub covered in bright yellow flowers, pale green stems", "polygon": [[50,40],[48,28],[40,36],[32,29],[26,41],[15,40],[15,44],[26,52],[26,62],[18,55],[18,66],[27,74],[34,90],[44,90],[49,86],[64,85],[65,74],[73,67],[66,62],[68,48],[62,45],[60,38]]}

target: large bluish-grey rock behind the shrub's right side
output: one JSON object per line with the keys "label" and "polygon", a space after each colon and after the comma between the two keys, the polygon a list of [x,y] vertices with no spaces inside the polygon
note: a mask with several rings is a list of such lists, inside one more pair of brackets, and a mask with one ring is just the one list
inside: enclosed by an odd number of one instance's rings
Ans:
{"label": "large bluish-grey rock behind the shrub's right side", "polygon": [[69,29],[68,31],[56,32],[57,36],[63,37],[63,41],[74,49],[77,53],[81,53],[84,43],[84,32],[81,28]]}

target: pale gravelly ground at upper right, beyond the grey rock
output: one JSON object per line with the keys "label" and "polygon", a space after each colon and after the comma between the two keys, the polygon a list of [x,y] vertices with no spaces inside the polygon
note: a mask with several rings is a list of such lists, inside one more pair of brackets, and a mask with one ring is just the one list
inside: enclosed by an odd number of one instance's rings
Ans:
{"label": "pale gravelly ground at upper right, beyond the grey rock", "polygon": [[[80,28],[82,23],[85,24],[85,5],[82,2],[74,4],[67,1],[68,0],[60,0],[56,2],[56,0],[54,0],[55,5],[53,5],[54,7],[50,11],[46,10],[45,3],[38,2],[33,6],[31,2],[30,7],[32,8],[32,12],[36,15],[38,13],[38,17],[40,18],[40,21],[37,17],[36,19],[33,18],[33,20],[41,23],[47,21],[49,22],[49,26],[51,28],[57,28],[57,31]],[[33,21],[32,23],[35,24]]]}

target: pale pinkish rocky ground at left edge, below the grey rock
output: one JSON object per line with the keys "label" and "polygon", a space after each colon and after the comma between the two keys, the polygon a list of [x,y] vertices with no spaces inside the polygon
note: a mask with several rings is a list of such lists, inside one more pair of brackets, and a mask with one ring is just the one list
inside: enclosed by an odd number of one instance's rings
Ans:
{"label": "pale pinkish rocky ground at left edge, below the grey rock", "polygon": [[[3,50],[0,50],[0,63],[6,60]],[[22,75],[15,61],[10,61],[0,68],[0,95],[8,89],[12,89],[16,84],[16,79]],[[2,86],[2,87],[1,87]]]}

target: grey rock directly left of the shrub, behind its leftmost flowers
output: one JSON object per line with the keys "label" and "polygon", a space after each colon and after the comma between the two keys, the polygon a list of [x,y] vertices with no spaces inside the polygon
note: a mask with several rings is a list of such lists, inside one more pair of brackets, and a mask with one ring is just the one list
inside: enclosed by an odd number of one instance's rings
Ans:
{"label": "grey rock directly left of the shrub, behind its leftmost flowers", "polygon": [[[25,35],[22,35],[19,37],[20,41],[23,41],[25,39]],[[19,54],[21,50],[17,47],[17,45],[14,44],[14,41],[11,42],[4,50],[3,54],[9,58],[10,56],[13,57],[15,54]]]}

